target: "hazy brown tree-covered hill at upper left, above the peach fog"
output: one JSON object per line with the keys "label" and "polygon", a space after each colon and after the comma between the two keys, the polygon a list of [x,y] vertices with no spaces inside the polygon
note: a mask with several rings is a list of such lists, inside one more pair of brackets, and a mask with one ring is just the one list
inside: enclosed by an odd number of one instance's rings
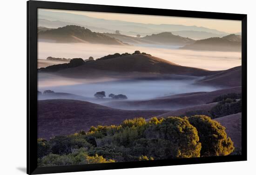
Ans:
{"label": "hazy brown tree-covered hill at upper left, above the peach fog", "polygon": [[38,39],[58,43],[97,43],[125,45],[121,41],[96,33],[78,25],[67,25],[57,29],[38,32]]}

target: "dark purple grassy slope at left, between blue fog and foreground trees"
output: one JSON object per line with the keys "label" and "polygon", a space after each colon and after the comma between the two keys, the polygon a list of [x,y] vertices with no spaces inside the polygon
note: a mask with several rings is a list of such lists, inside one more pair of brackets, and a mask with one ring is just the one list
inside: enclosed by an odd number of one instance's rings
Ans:
{"label": "dark purple grassy slope at left, between blue fog and foreground trees", "polygon": [[97,125],[119,125],[124,119],[146,119],[167,111],[128,111],[80,100],[39,100],[38,138],[68,135]]}

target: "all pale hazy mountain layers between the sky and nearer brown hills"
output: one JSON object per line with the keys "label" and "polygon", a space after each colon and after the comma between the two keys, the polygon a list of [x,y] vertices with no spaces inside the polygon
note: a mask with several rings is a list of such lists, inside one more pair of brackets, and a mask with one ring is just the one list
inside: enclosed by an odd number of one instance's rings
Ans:
{"label": "all pale hazy mountain layers between the sky and nearer brown hills", "polygon": [[[136,36],[137,34],[140,34],[143,37],[165,31],[193,39],[223,37],[225,35],[229,35],[227,32],[209,29],[206,27],[198,27],[195,25],[144,24],[121,20],[99,19],[67,12],[50,12],[40,10],[38,12],[38,17],[39,26],[58,28],[65,25],[80,25],[96,32],[114,33],[116,30],[119,30],[121,34],[129,36]],[[104,17],[103,14],[102,17]]]}

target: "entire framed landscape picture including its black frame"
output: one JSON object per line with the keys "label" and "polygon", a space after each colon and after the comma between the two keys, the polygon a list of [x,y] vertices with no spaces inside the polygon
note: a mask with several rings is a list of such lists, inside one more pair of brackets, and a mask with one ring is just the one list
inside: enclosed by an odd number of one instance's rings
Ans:
{"label": "entire framed landscape picture including its black frame", "polygon": [[27,174],[247,160],[246,27],[27,1]]}

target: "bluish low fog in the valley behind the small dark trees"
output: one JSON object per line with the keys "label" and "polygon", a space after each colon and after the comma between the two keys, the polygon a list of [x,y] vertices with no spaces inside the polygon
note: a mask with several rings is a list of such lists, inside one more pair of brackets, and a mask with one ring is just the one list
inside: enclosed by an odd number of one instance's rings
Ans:
{"label": "bluish low fog in the valley behind the small dark trees", "polygon": [[[209,92],[220,89],[218,87],[195,85],[194,83],[202,77],[174,76],[173,79],[133,79],[133,80],[85,80],[85,79],[68,79],[55,75],[49,79],[47,74],[39,74],[39,91],[50,89],[54,92],[70,93],[81,95],[94,99],[94,94],[99,91],[105,91],[108,94],[124,94],[128,100],[147,100],[162,97],[165,95],[182,94],[190,92]],[[105,99],[107,100],[107,99]],[[103,102],[105,101],[103,100]],[[91,100],[90,100],[91,101]],[[98,100],[100,103],[101,101]]]}

